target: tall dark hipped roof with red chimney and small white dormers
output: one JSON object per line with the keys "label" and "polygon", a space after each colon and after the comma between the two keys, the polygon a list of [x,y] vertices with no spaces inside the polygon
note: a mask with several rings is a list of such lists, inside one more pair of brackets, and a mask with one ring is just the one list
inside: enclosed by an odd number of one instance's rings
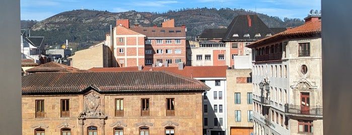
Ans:
{"label": "tall dark hipped roof with red chimney and small white dormers", "polygon": [[[249,26],[249,20],[251,26]],[[249,37],[244,37],[246,33]],[[260,33],[259,37],[255,37],[257,33]],[[268,33],[275,34],[257,15],[239,15],[230,23],[223,41],[256,41],[265,38]],[[233,37],[234,34],[238,34],[238,37]]]}

